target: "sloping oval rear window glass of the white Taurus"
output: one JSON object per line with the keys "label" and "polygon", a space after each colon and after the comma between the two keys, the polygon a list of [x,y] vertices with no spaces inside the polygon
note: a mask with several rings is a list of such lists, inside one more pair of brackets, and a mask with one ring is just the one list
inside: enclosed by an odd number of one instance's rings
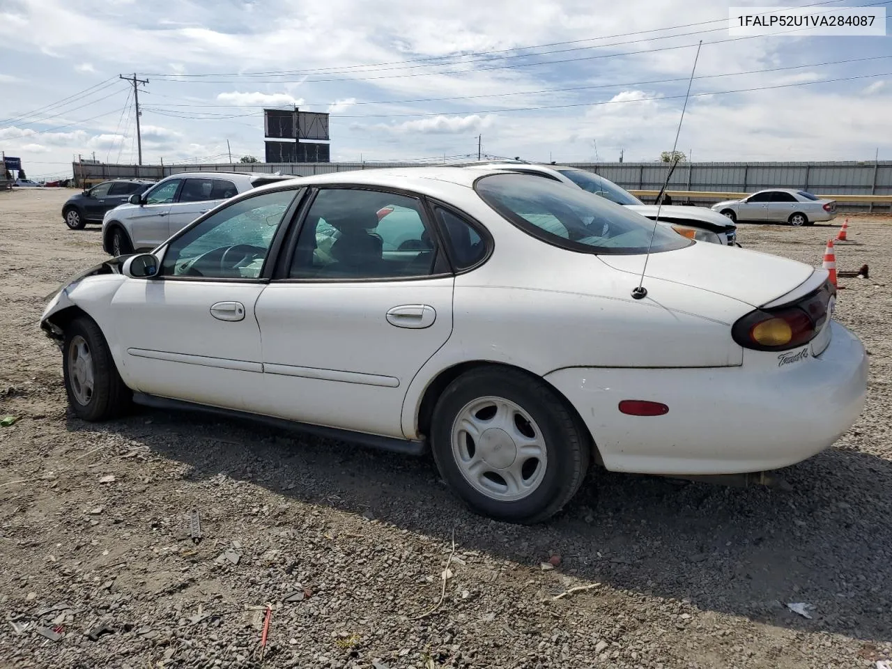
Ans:
{"label": "sloping oval rear window glass of the white Taurus", "polygon": [[657,226],[634,211],[550,179],[493,174],[477,179],[475,191],[504,218],[541,241],[568,251],[629,255],[673,251],[692,244],[672,228]]}

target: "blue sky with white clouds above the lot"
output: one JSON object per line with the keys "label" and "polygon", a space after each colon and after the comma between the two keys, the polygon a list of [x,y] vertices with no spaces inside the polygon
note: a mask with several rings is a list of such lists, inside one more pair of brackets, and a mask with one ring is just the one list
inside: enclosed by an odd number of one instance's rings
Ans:
{"label": "blue sky with white clouds above the lot", "polygon": [[145,164],[262,160],[263,107],[293,105],[331,113],[332,161],[475,158],[478,136],[489,156],[656,161],[702,40],[692,161],[892,160],[892,38],[731,37],[730,4],[0,0],[0,150],[35,178],[136,162],[136,73]]}

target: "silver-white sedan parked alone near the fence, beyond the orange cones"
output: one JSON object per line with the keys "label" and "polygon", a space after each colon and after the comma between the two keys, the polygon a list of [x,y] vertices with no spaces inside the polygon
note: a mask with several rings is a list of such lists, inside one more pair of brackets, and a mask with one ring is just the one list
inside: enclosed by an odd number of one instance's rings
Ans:
{"label": "silver-white sedan parked alone near the fence, beyond the orange cones", "polygon": [[789,223],[797,227],[833,220],[837,213],[836,201],[795,188],[770,188],[742,200],[719,202],[712,210],[735,222]]}

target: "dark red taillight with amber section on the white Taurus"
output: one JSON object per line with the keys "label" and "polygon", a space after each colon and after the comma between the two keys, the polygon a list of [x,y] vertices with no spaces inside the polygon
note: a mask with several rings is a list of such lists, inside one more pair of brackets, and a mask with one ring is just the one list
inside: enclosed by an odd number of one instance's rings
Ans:
{"label": "dark red taillight with amber section on the white Taurus", "polygon": [[801,300],[775,309],[750,311],[731,327],[731,337],[747,349],[786,351],[811,342],[828,318],[834,293],[829,283]]}

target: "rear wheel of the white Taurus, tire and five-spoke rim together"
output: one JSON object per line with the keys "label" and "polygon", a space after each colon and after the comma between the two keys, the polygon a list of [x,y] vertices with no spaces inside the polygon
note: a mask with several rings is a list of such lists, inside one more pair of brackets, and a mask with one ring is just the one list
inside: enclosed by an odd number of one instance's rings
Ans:
{"label": "rear wheel of the white Taurus, tire and five-spoke rim together", "polygon": [[453,381],[434,408],[434,459],[476,513],[510,523],[554,515],[582,484],[591,442],[547,384],[513,369]]}

